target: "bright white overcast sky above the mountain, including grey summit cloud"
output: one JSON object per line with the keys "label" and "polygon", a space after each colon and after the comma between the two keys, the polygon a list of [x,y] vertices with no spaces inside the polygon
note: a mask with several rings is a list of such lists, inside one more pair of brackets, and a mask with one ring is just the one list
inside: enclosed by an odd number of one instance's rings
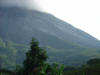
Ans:
{"label": "bright white overcast sky above the mountain, including grey summit cloud", "polygon": [[0,5],[44,10],[100,40],[100,0],[0,0]]}

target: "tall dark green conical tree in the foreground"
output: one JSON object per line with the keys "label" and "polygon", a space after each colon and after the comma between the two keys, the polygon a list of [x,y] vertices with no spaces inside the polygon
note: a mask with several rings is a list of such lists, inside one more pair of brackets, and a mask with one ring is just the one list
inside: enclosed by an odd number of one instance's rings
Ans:
{"label": "tall dark green conical tree in the foreground", "polygon": [[40,48],[39,42],[32,38],[30,50],[26,53],[24,61],[24,75],[30,75],[36,68],[41,68],[46,60],[46,51]]}

